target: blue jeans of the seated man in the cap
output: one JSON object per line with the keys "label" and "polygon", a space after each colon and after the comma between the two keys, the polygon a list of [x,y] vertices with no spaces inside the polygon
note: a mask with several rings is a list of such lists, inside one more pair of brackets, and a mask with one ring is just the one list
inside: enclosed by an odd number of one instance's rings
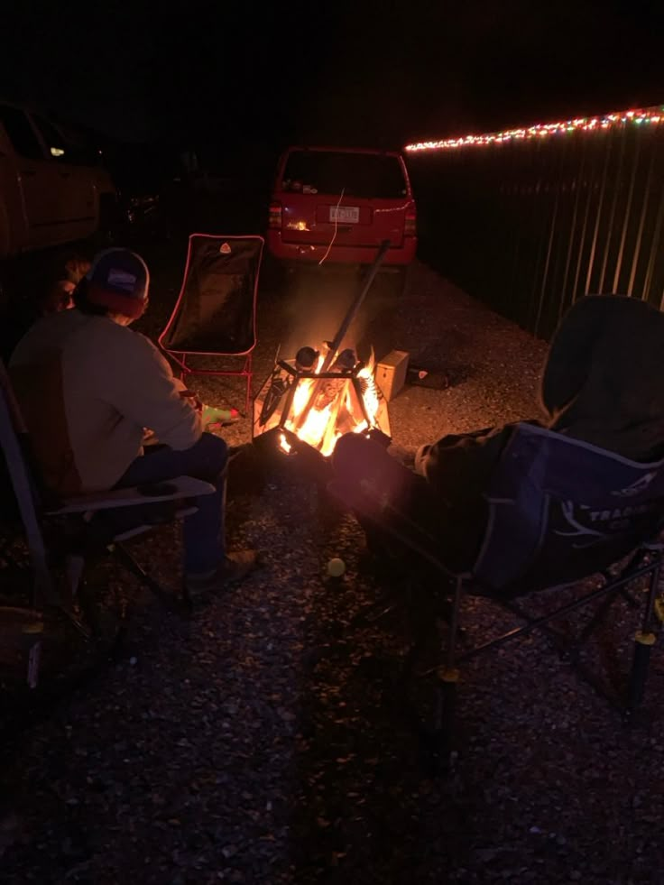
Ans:
{"label": "blue jeans of the seated man in the cap", "polygon": [[168,446],[146,446],[122,476],[116,488],[159,483],[178,476],[205,480],[217,489],[196,498],[198,511],[185,517],[183,526],[185,573],[216,568],[226,556],[226,464],[228,447],[223,439],[204,433],[192,447],[176,451]]}

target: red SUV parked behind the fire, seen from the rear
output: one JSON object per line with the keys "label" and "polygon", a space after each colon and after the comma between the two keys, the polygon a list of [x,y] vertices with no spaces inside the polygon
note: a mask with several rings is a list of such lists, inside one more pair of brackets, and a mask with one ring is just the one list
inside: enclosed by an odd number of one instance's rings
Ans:
{"label": "red SUV parked behind the fire, seen from the rear", "polygon": [[284,263],[374,260],[390,241],[385,264],[415,257],[415,201],[400,153],[291,147],[272,192],[267,244]]}

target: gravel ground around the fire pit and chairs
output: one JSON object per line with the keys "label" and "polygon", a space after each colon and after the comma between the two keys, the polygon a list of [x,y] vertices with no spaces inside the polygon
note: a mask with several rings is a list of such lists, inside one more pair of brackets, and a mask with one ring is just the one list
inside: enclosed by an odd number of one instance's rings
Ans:
{"label": "gravel ground around the fire pit and chairs", "polygon": [[[147,257],[153,334],[182,255]],[[407,349],[450,380],[393,401],[398,447],[536,413],[541,342],[422,265],[395,312],[390,282],[356,334]],[[347,283],[330,274],[262,293],[257,379],[280,342],[288,355],[334,334]],[[241,402],[235,382],[198,389]],[[247,442],[250,421],[226,438]],[[7,885],[664,882],[657,655],[642,722],[629,730],[543,639],[475,659],[460,684],[454,776],[429,779],[393,703],[401,623],[338,639],[378,593],[355,521],[275,473],[260,493],[232,496],[228,526],[232,544],[263,550],[265,567],[190,620],[140,593],[123,659],[14,748],[0,828]],[[177,586],[176,530],[134,550]],[[331,556],[346,560],[341,581],[325,577]],[[507,623],[483,600],[466,602],[464,622],[474,639]],[[608,630],[621,664],[632,622],[621,611]],[[591,662],[603,649],[590,650]]]}

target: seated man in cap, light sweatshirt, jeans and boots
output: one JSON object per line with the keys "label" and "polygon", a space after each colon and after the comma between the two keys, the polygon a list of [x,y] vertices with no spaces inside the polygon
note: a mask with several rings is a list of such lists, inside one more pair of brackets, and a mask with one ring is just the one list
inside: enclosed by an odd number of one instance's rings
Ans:
{"label": "seated man in cap, light sweatshirt, jeans and boots", "polygon": [[[76,495],[189,475],[215,485],[184,522],[190,595],[242,579],[253,552],[226,553],[227,447],[204,432],[198,402],[152,342],[129,328],[148,304],[150,276],[126,249],[97,255],[74,309],[42,317],[19,342],[10,374],[42,478]],[[143,449],[143,429],[161,445]]]}

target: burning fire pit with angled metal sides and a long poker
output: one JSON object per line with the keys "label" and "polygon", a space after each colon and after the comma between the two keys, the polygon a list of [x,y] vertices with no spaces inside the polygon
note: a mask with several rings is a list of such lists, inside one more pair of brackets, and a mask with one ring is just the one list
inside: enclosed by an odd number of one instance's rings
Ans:
{"label": "burning fire pit with angled metal sides and a long poker", "polygon": [[353,349],[341,349],[387,247],[382,244],[332,341],[320,349],[303,346],[294,357],[277,359],[254,400],[254,443],[283,457],[306,454],[320,459],[333,453],[345,433],[371,435],[389,445],[390,420],[374,381],[374,359],[364,364]]}

